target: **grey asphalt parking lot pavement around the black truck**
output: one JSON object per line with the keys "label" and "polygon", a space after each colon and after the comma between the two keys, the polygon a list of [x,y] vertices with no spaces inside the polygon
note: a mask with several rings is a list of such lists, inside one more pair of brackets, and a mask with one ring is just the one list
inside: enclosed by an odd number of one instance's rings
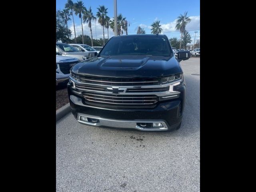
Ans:
{"label": "grey asphalt parking lot pavement around the black truck", "polygon": [[56,122],[57,192],[200,191],[200,58],[180,64],[187,90],[179,130],[97,128],[72,114]]}

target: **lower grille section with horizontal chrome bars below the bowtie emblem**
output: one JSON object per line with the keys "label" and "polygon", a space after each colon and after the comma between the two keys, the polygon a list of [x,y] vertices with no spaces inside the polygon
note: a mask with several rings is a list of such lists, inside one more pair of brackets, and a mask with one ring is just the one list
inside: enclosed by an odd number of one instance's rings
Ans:
{"label": "lower grille section with horizontal chrome bars below the bowtie emblem", "polygon": [[83,92],[86,101],[101,105],[152,105],[158,102],[155,95],[119,95]]}

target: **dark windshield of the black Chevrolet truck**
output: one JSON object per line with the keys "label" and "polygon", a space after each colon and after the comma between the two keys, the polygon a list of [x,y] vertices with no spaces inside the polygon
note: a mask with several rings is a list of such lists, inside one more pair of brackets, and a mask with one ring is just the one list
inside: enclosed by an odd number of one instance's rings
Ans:
{"label": "dark windshield of the black Chevrolet truck", "polygon": [[154,55],[171,56],[170,43],[162,36],[130,36],[111,38],[100,56]]}

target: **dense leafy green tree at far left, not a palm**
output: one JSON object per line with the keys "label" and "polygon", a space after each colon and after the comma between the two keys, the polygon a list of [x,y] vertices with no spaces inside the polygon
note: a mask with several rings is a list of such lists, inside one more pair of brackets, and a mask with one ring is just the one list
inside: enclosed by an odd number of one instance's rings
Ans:
{"label": "dense leafy green tree at far left, not a palm", "polygon": [[56,42],[62,41],[66,43],[69,40],[68,37],[71,36],[71,30],[66,28],[65,20],[62,16],[60,10],[56,11]]}

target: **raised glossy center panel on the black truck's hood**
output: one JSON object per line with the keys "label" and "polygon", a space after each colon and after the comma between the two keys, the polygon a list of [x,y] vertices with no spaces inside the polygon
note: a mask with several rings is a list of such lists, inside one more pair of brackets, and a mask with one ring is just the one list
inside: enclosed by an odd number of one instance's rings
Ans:
{"label": "raised glossy center panel on the black truck's hood", "polygon": [[118,59],[118,58],[107,58],[100,64],[100,68],[103,70],[138,70],[146,62],[149,57],[142,59]]}

